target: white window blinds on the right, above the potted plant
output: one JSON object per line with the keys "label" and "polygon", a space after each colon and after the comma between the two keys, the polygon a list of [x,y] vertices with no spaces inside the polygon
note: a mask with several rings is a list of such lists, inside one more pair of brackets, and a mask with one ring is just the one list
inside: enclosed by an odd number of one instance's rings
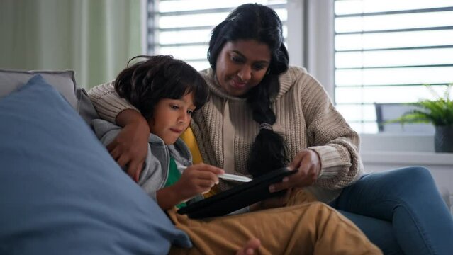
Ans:
{"label": "white window blinds on the right, above the potted plant", "polygon": [[335,0],[335,103],[376,133],[375,103],[442,95],[453,82],[453,1]]}

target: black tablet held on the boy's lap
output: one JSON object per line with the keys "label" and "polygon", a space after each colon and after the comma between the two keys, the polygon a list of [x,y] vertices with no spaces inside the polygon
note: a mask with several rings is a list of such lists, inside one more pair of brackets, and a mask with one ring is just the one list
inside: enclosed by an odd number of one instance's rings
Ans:
{"label": "black tablet held on the boy's lap", "polygon": [[276,169],[247,183],[222,191],[214,196],[191,203],[179,209],[179,214],[186,214],[192,219],[227,215],[247,205],[252,205],[266,198],[281,194],[270,193],[269,185],[280,182],[285,176],[296,173],[286,167]]}

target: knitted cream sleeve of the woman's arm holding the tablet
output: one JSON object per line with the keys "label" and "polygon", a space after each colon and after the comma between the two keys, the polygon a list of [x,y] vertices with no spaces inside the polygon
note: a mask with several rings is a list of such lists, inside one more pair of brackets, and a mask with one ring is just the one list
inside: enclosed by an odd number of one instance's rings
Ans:
{"label": "knitted cream sleeve of the woman's arm holding the tablet", "polygon": [[320,176],[315,184],[328,189],[349,186],[363,174],[359,135],[349,127],[323,86],[310,74],[301,75],[296,82],[301,86],[307,146],[318,153],[321,161]]}

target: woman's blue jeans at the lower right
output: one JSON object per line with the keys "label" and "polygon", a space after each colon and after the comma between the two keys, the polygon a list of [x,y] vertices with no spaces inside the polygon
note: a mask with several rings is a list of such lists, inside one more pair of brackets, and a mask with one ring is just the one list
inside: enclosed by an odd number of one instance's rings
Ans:
{"label": "woman's blue jeans at the lower right", "polygon": [[453,217],[424,167],[366,174],[330,205],[384,254],[453,254]]}

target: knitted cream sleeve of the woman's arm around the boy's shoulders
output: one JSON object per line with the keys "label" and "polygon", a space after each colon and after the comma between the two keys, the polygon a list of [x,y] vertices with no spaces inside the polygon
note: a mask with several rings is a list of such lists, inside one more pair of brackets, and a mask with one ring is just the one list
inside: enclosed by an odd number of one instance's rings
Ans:
{"label": "knitted cream sleeve of the woman's arm around the boy's shoulders", "polygon": [[118,96],[113,87],[113,81],[95,86],[88,91],[88,96],[99,116],[111,123],[116,123],[116,116],[124,110],[138,111],[128,101]]}

